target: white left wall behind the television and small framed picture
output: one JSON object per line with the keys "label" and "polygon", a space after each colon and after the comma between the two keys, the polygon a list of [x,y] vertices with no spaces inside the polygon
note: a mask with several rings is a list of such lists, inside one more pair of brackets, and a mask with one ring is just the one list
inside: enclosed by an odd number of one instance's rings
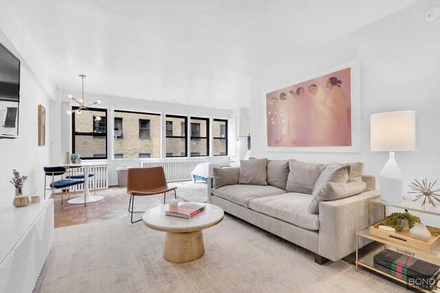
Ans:
{"label": "white left wall behind the television and small framed picture", "polygon": [[[1,14],[1,13],[0,13]],[[1,27],[0,27],[1,29]],[[14,186],[9,183],[12,169],[28,180],[23,186],[23,194],[43,196],[43,166],[50,165],[51,151],[51,100],[47,91],[42,90],[41,82],[30,69],[26,60],[19,54],[10,40],[0,30],[0,43],[3,43],[21,59],[21,84],[19,104],[19,137],[0,140],[0,209],[12,205]],[[38,105],[46,109],[46,145],[38,146]]]}

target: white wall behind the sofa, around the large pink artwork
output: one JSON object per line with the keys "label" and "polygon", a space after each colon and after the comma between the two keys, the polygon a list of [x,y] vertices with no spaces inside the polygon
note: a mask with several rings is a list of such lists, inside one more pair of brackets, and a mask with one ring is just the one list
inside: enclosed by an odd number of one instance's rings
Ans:
{"label": "white wall behind the sofa, around the large pink artwork", "polygon": [[[396,154],[404,189],[414,178],[440,180],[440,19],[432,23],[423,19],[428,8],[436,5],[440,1],[421,1],[302,54],[272,56],[252,75],[252,155],[311,162],[363,161],[364,173],[378,176],[388,154],[370,151],[370,115],[416,110],[417,151]],[[353,59],[360,60],[361,71],[361,152],[266,152],[264,90]]]}

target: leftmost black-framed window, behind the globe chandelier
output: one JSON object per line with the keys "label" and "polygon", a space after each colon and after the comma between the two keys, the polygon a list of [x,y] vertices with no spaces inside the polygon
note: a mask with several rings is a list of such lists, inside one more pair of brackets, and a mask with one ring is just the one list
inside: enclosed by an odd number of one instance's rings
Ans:
{"label": "leftmost black-framed window, behind the globe chandelier", "polygon": [[[72,110],[78,107],[72,107]],[[96,120],[101,117],[101,120]],[[122,141],[122,139],[121,139]],[[107,110],[89,108],[72,115],[72,152],[81,159],[107,159]]]}

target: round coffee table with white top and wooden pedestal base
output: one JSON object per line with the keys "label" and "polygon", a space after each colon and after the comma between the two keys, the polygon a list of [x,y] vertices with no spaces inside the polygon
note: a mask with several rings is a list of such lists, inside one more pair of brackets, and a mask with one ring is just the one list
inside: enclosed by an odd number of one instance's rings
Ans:
{"label": "round coffee table with white top and wooden pedestal base", "polygon": [[[184,204],[186,202],[179,202]],[[164,259],[172,263],[195,261],[205,254],[202,230],[219,224],[223,220],[223,209],[213,204],[204,204],[205,211],[190,219],[165,215],[168,204],[163,204],[144,213],[144,224],[148,228],[166,232]]]}

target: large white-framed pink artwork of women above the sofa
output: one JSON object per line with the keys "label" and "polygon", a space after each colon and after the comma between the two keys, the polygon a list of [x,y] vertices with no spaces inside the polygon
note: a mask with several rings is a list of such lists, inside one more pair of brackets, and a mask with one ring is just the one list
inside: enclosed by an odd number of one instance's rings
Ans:
{"label": "large white-framed pink artwork of women above the sofa", "polygon": [[351,61],[264,93],[272,152],[360,152],[359,62]]}

